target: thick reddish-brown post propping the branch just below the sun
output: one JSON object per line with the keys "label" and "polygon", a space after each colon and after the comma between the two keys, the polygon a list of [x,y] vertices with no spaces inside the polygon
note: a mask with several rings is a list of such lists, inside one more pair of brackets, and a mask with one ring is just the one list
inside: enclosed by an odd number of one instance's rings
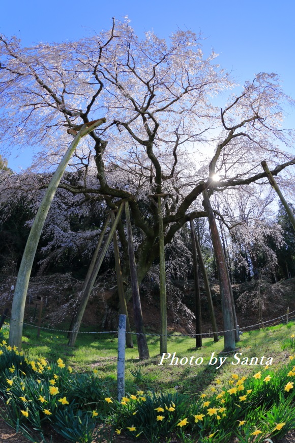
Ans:
{"label": "thick reddish-brown post propping the branch just below the sun", "polygon": [[[200,182],[200,184],[204,185],[204,182]],[[226,262],[216,225],[216,220],[210,204],[207,190],[204,189],[202,191],[202,194],[204,199],[203,206],[207,213],[211,229],[212,243],[213,243],[214,253],[216,256],[216,266],[218,269],[219,282],[220,282],[221,307],[223,315],[223,326],[225,330],[224,350],[233,351],[235,350],[234,323],[233,323],[230,291],[229,291],[227,272],[226,272]]]}

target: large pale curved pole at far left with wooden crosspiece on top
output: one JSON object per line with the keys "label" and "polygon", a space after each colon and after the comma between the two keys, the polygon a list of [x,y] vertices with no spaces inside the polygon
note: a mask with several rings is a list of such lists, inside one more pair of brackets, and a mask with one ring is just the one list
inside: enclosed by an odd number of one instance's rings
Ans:
{"label": "large pale curved pole at far left with wooden crosspiece on top", "polygon": [[45,223],[46,216],[48,214],[51,202],[55,195],[58,184],[60,184],[61,178],[65,172],[65,169],[73,155],[73,152],[78,146],[79,141],[82,137],[92,132],[98,126],[106,122],[106,119],[99,119],[89,127],[83,125],[77,135],[75,136],[73,142],[69,146],[67,152],[65,153],[61,163],[58,165],[47,189],[41,205],[37,211],[34,223],[32,225],[30,235],[28,236],[22,260],[20,263],[17,281],[15,285],[14,297],[12,301],[11,309],[11,320],[9,329],[9,344],[10,346],[16,346],[18,350],[21,350],[21,338],[22,338],[22,326],[23,326],[23,316],[25,299],[28,288],[28,282],[30,280],[30,275],[32,272],[32,266],[37,250],[37,246],[40,240],[41,232]]}

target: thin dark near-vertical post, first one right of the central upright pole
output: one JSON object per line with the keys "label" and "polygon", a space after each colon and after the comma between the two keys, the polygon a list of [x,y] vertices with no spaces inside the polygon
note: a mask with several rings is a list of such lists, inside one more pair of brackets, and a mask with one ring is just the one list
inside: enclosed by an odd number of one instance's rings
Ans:
{"label": "thin dark near-vertical post, first one right of the central upright pole", "polygon": [[192,250],[193,250],[193,266],[194,266],[194,281],[195,281],[195,316],[196,316],[196,348],[202,347],[202,317],[201,317],[201,295],[200,282],[198,272],[198,258],[196,235],[193,220],[190,220]]}

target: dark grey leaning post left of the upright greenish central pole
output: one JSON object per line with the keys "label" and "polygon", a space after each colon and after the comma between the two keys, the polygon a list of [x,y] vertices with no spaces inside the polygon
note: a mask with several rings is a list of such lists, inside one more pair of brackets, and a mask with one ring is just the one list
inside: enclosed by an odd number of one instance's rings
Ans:
{"label": "dark grey leaning post left of the upright greenish central pole", "polygon": [[133,298],[133,312],[134,312],[134,322],[137,334],[137,347],[140,359],[150,358],[149,348],[147,347],[146,337],[144,334],[144,326],[142,319],[141,303],[139,296],[137,271],[133,247],[133,235],[131,229],[131,221],[129,214],[129,204],[126,202],[125,205],[126,214],[126,225],[127,225],[127,239],[128,239],[128,255],[129,255],[129,266],[130,266],[130,280],[132,288],[132,298]]}

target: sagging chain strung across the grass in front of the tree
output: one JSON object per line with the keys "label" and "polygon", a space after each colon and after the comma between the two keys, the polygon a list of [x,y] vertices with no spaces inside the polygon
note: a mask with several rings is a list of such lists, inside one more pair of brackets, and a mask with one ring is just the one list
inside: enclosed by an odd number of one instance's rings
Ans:
{"label": "sagging chain strung across the grass in front of the tree", "polygon": [[[239,327],[239,329],[227,329],[227,330],[217,331],[217,334],[224,334],[226,332],[231,332],[231,331],[235,331],[235,330],[239,330],[239,331],[244,330],[245,332],[249,332],[250,330],[255,330],[255,329],[250,329],[250,328],[253,328],[253,327],[257,328],[257,326],[261,326],[261,325],[262,325],[262,328],[263,327],[268,327],[268,326],[274,326],[276,324],[282,323],[283,320],[284,320],[284,317],[287,318],[287,316],[288,316],[288,320],[290,320],[292,318],[295,318],[295,311],[291,311],[291,312],[289,312],[287,314],[280,315],[279,317],[272,318],[270,320],[261,321],[259,323],[255,323],[255,324],[252,324],[252,325],[249,325],[249,326]],[[5,315],[5,318],[7,318],[9,320],[14,320],[11,317],[8,317],[7,315]],[[275,321],[275,320],[277,320],[277,321]],[[25,323],[24,321],[19,321],[19,320],[14,320],[14,321],[17,321],[18,323],[22,323],[23,325],[26,325],[26,326],[36,327],[36,328],[40,328],[40,329],[44,329],[44,330],[63,332],[63,333],[67,333],[67,334],[69,333],[68,329],[55,329],[55,328],[50,328],[50,327],[45,327],[45,326],[38,326],[38,325],[35,325],[35,324],[32,324],[32,323]],[[275,323],[269,324],[270,322],[274,322],[274,321],[275,321]],[[78,333],[78,334],[117,334],[118,330],[111,330],[111,331],[70,331],[70,332]],[[203,337],[208,337],[209,336],[211,338],[211,336],[214,333],[213,333],[213,331],[210,331],[208,333],[202,333],[202,334],[194,334],[193,333],[193,334],[167,334],[167,335],[164,335],[164,334],[150,334],[150,333],[144,333],[143,334],[143,333],[135,333],[135,332],[128,332],[128,331],[126,331],[126,334],[132,334],[132,335],[136,335],[136,336],[137,335],[145,335],[145,336],[149,336],[149,337],[191,337],[191,338],[195,338],[196,336],[203,336]]]}

